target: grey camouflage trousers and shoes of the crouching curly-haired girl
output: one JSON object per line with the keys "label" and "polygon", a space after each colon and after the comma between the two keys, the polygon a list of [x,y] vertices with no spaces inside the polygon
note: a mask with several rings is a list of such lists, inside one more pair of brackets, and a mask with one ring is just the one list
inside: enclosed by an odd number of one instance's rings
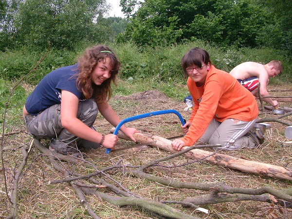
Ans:
{"label": "grey camouflage trousers and shoes of the crouching curly-haired girl", "polygon": [[[50,148],[56,152],[68,153],[78,152],[78,147],[88,149],[98,148],[100,145],[84,139],[80,139],[66,129],[61,124],[61,104],[55,104],[37,116],[27,115],[24,118],[25,127],[37,139],[51,139]],[[92,99],[79,102],[77,118],[87,126],[93,128],[93,123],[97,117],[97,105]],[[77,147],[78,146],[78,147]]]}

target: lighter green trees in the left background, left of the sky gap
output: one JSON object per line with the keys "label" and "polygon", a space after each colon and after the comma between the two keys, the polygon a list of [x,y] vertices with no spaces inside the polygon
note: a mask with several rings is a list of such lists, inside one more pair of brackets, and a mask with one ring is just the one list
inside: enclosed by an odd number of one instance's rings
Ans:
{"label": "lighter green trees in the left background, left of the sky gap", "polygon": [[2,0],[0,51],[23,46],[74,50],[80,42],[104,42],[125,30],[127,20],[105,18],[106,0]]}

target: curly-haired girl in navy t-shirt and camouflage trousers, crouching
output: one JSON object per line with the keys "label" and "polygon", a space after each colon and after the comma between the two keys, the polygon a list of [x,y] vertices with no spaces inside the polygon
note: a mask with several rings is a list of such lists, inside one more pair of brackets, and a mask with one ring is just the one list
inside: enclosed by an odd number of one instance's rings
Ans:
{"label": "curly-haired girl in navy t-shirt and camouflage trousers, crouching", "polygon": [[[120,63],[104,45],[87,49],[73,66],[48,73],[27,97],[22,116],[27,130],[37,139],[51,139],[50,150],[76,153],[80,148],[112,149],[118,137],[103,135],[93,128],[97,111],[110,124],[121,120],[110,107],[112,90]],[[135,128],[120,130],[135,142]]]}

